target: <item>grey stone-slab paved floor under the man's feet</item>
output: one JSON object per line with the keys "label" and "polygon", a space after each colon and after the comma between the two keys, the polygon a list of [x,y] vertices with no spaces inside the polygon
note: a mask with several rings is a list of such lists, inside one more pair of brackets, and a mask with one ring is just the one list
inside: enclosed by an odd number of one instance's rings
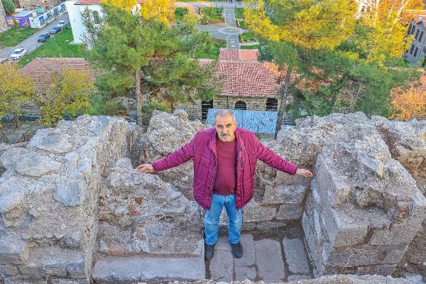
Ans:
{"label": "grey stone-slab paved floor under the man's feet", "polygon": [[311,278],[310,263],[302,239],[258,239],[253,234],[242,234],[240,240],[244,255],[234,258],[227,237],[218,239],[214,258],[206,262],[207,277],[227,283],[245,279],[280,283]]}

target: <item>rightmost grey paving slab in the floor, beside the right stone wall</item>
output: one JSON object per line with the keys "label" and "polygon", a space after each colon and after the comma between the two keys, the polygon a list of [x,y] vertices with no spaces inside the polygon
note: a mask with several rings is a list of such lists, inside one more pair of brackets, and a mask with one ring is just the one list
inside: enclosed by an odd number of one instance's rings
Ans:
{"label": "rightmost grey paving slab in the floor, beside the right stone wall", "polygon": [[309,258],[305,251],[305,245],[301,239],[283,239],[285,261],[288,270],[295,274],[310,273]]}

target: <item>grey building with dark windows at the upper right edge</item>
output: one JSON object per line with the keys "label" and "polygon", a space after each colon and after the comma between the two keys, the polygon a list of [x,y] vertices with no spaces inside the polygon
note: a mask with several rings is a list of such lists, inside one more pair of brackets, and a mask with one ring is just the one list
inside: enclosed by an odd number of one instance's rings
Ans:
{"label": "grey building with dark windows at the upper right edge", "polygon": [[410,48],[404,55],[405,60],[417,64],[422,59],[422,66],[426,64],[426,10],[415,11],[413,21],[408,26],[408,35],[414,35]]}

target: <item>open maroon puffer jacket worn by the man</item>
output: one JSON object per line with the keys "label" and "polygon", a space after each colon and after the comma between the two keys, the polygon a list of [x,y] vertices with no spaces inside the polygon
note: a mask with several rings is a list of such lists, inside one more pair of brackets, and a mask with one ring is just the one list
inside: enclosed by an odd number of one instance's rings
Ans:
{"label": "open maroon puffer jacket worn by the man", "polygon": [[[280,155],[258,141],[253,132],[236,128],[236,209],[241,209],[253,197],[254,170],[256,160],[271,165],[277,170],[294,175],[297,166],[284,160]],[[154,170],[167,170],[185,163],[190,158],[194,163],[194,199],[204,209],[212,206],[213,185],[216,178],[216,129],[199,131],[195,137],[182,148],[156,160]]]}

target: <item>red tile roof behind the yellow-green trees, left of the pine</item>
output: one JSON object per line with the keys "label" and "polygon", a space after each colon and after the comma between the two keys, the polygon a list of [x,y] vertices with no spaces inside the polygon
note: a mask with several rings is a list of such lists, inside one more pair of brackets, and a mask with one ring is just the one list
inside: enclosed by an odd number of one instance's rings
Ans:
{"label": "red tile roof behind the yellow-green trees, left of the pine", "polygon": [[35,58],[21,69],[21,73],[31,77],[39,88],[44,89],[53,72],[67,69],[89,72],[94,80],[94,72],[84,58]]}

